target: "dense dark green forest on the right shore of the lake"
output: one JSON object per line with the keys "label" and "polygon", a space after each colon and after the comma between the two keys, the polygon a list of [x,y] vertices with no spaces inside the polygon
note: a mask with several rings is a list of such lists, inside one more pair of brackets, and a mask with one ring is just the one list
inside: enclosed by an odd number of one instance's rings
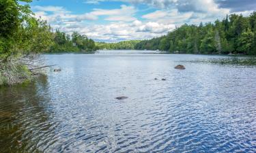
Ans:
{"label": "dense dark green forest on the right shore of the lake", "polygon": [[165,50],[188,54],[256,54],[256,12],[231,14],[223,20],[184,24],[163,37],[140,41],[137,50]]}

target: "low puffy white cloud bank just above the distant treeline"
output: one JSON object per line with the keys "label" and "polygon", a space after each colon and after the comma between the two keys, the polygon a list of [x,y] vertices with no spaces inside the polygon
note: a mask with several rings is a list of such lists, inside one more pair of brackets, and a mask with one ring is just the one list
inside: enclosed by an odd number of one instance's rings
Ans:
{"label": "low puffy white cloud bank just above the distant treeline", "polygon": [[[137,26],[135,26],[135,24]],[[168,31],[175,29],[174,24],[160,24],[157,22],[141,22],[136,20],[128,22],[112,22],[109,24],[67,24],[59,27],[61,31],[72,33],[79,31],[88,37],[99,41],[122,41],[130,39],[150,39],[160,37]]]}

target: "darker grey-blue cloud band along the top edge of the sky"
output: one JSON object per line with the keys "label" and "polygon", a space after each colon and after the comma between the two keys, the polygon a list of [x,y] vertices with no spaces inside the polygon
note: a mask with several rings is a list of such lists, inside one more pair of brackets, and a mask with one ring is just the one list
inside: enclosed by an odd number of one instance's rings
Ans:
{"label": "darker grey-blue cloud band along the top edge of the sky", "polygon": [[[85,0],[85,3],[100,3],[110,0]],[[208,12],[210,5],[230,9],[231,12],[255,10],[255,0],[113,0],[132,4],[145,4],[160,9],[177,8],[180,12]],[[215,7],[215,6],[214,6]]]}

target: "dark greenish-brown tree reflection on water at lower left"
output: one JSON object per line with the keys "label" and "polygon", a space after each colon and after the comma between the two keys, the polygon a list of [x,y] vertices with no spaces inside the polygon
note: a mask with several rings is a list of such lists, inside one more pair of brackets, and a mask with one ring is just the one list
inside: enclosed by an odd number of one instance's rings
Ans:
{"label": "dark greenish-brown tree reflection on water at lower left", "polygon": [[[46,76],[37,81],[0,88],[1,152],[39,152],[51,140],[51,112]],[[46,139],[45,139],[46,140]]]}

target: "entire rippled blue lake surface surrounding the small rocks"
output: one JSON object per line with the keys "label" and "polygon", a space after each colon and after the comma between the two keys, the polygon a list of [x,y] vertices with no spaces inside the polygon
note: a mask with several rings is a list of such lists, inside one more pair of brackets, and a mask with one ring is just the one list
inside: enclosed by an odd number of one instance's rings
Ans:
{"label": "entire rippled blue lake surface surrounding the small rocks", "polygon": [[256,152],[255,58],[142,53],[44,55],[0,88],[0,152]]}

